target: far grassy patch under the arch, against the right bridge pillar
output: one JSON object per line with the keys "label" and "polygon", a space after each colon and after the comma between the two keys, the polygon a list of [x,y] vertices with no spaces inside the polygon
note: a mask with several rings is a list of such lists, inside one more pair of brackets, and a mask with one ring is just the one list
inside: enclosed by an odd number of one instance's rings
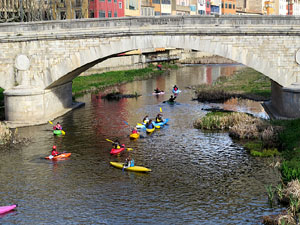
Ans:
{"label": "far grassy patch under the arch, against the right bridge pillar", "polygon": [[196,88],[198,99],[218,101],[231,97],[242,97],[253,100],[267,100],[271,96],[271,81],[265,75],[245,68],[230,77],[219,77],[212,85],[199,85]]}

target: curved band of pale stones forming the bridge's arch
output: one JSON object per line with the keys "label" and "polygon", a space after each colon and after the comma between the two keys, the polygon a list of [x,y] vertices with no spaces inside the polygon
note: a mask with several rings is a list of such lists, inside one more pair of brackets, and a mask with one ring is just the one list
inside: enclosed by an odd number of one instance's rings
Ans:
{"label": "curved band of pale stones forming the bridge's arch", "polygon": [[227,59],[231,59],[238,63],[251,67],[271,80],[281,83],[281,76],[277,74],[277,70],[272,65],[272,62],[260,55],[259,52],[254,54],[248,48],[235,47],[230,42],[219,42],[216,38],[202,36],[130,36],[119,38],[109,42],[108,46],[93,46],[79,52],[75,52],[70,57],[63,59],[61,63],[50,66],[47,70],[49,73],[45,77],[51,77],[46,82],[45,89],[53,88],[63,83],[71,82],[80,73],[93,67],[94,65],[105,61],[108,58],[116,57],[118,54],[140,49],[155,49],[155,48],[176,48],[176,49],[191,49],[200,52],[219,55]]}

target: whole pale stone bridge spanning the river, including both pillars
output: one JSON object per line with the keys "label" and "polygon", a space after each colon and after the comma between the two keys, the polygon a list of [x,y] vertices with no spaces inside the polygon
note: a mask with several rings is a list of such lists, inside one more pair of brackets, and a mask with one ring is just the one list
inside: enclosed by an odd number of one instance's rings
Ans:
{"label": "whole pale stone bridge spanning the river, including both pillars", "polygon": [[0,24],[7,121],[44,123],[72,108],[72,80],[119,53],[170,47],[207,52],[272,80],[268,108],[300,117],[300,17],[163,16]]}

